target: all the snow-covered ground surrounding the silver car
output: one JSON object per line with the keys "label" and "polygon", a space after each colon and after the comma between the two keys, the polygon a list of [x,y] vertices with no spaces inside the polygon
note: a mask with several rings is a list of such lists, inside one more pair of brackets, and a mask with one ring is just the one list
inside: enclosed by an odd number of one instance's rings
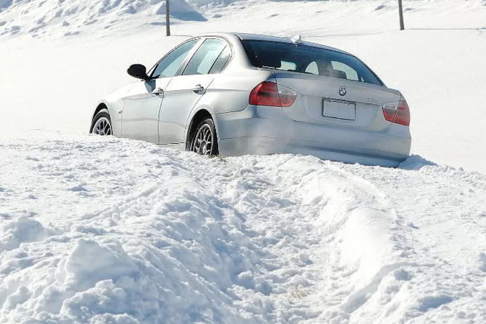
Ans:
{"label": "all the snow-covered ground surrounding the silver car", "polygon": [[[0,0],[0,323],[486,322],[484,1],[404,0],[404,32],[395,1],[174,3],[164,37],[157,0]],[[213,30],[357,54],[434,163],[86,135],[129,64]]]}

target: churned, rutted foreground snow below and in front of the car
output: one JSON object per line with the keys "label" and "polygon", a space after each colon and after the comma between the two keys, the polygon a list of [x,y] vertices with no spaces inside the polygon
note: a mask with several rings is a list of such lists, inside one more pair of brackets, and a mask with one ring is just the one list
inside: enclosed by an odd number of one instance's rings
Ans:
{"label": "churned, rutted foreground snow below and in front of the car", "polygon": [[479,173],[34,133],[0,140],[0,322],[486,320]]}

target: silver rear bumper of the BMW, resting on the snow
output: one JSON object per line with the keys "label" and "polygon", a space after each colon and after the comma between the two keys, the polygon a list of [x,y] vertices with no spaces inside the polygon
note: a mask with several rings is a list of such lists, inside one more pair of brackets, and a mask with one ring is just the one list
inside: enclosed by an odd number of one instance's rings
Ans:
{"label": "silver rear bumper of the BMW, resting on the snow", "polygon": [[214,115],[221,155],[294,153],[364,165],[397,166],[410,153],[409,128],[383,131],[302,123],[282,109],[248,106]]}

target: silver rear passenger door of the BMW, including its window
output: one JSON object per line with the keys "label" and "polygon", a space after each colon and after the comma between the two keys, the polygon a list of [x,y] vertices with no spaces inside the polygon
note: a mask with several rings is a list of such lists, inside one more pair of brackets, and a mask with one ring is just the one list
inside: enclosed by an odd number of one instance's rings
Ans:
{"label": "silver rear passenger door of the BMW, including its window", "polygon": [[183,143],[187,118],[213,82],[211,73],[217,59],[228,48],[223,39],[206,38],[188,61],[183,72],[165,90],[160,108],[158,133],[165,144]]}

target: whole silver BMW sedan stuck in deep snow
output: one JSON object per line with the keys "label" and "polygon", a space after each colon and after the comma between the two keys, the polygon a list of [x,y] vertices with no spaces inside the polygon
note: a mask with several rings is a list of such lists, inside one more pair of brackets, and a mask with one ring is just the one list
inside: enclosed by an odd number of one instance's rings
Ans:
{"label": "whole silver BMW sedan stuck in deep snow", "polygon": [[207,155],[296,153],[397,166],[410,111],[355,56],[273,36],[193,37],[100,100],[90,132]]}

